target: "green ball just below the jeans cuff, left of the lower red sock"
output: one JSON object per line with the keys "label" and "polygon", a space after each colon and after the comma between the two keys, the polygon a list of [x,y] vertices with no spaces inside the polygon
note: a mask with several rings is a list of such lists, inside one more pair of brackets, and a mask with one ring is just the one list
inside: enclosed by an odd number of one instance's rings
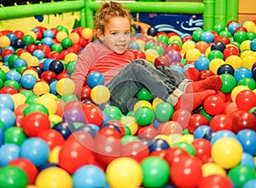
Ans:
{"label": "green ball just below the jeans cuff, left of the lower red sock", "polygon": [[160,104],[155,106],[154,113],[155,113],[155,118],[159,122],[167,122],[172,119],[174,109],[170,103],[161,102]]}

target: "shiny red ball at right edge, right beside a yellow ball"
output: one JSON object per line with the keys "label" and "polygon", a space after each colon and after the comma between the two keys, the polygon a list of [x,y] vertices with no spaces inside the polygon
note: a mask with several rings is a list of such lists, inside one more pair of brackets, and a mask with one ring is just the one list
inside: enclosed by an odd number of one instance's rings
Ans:
{"label": "shiny red ball at right edge, right beside a yellow ball", "polygon": [[256,94],[252,90],[242,90],[236,95],[236,105],[239,110],[249,111],[256,106]]}

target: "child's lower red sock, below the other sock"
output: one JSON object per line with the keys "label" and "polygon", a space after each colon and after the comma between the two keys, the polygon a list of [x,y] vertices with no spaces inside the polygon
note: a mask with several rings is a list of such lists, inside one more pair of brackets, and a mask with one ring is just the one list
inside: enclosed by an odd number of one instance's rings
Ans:
{"label": "child's lower red sock, below the other sock", "polygon": [[216,94],[216,91],[212,89],[207,89],[206,91],[183,94],[177,104],[175,105],[175,110],[177,109],[186,109],[189,111],[193,111],[196,107],[202,105],[204,100],[212,94]]}

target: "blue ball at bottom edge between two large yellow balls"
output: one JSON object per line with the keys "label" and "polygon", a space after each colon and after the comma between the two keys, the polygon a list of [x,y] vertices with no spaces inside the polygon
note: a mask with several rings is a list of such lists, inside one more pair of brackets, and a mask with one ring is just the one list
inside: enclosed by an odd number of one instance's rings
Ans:
{"label": "blue ball at bottom edge between two large yellow balls", "polygon": [[101,168],[95,165],[84,165],[73,174],[73,187],[105,187],[107,185],[106,175]]}

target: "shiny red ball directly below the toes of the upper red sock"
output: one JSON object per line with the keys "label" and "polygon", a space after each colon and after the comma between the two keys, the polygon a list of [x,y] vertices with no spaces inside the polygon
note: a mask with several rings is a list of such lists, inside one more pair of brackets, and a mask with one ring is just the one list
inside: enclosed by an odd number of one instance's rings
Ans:
{"label": "shiny red ball directly below the toes of the upper red sock", "polygon": [[203,107],[207,114],[215,116],[224,111],[224,100],[219,95],[212,94],[204,100]]}

